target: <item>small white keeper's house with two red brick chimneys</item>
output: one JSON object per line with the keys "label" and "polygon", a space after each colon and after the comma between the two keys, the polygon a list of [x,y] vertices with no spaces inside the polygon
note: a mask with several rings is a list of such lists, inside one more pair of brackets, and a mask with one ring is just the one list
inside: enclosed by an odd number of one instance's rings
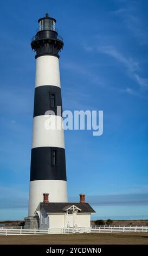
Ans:
{"label": "small white keeper's house with two red brick chimneys", "polygon": [[90,227],[91,214],[95,211],[85,203],[85,194],[80,194],[80,203],[50,203],[48,193],[43,193],[43,203],[35,211],[40,228]]}

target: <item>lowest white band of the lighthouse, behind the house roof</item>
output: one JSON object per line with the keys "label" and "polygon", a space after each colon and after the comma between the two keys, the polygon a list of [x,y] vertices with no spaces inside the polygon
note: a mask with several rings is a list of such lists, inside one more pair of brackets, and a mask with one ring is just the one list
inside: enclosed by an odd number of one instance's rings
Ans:
{"label": "lowest white band of the lighthouse, behind the house roof", "polygon": [[39,203],[43,202],[43,193],[49,193],[49,202],[67,203],[67,181],[64,180],[33,180],[30,181],[29,216]]}

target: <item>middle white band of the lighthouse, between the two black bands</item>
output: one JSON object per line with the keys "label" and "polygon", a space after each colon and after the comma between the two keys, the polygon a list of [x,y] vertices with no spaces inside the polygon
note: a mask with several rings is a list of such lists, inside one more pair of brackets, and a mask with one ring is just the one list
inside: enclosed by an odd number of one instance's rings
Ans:
{"label": "middle white band of the lighthouse, between the two black bands", "polygon": [[[33,143],[32,148],[57,147],[65,149],[63,129],[60,129],[62,117],[59,115],[39,115],[33,120]],[[47,130],[52,124],[52,129]],[[60,130],[57,129],[56,125]]]}

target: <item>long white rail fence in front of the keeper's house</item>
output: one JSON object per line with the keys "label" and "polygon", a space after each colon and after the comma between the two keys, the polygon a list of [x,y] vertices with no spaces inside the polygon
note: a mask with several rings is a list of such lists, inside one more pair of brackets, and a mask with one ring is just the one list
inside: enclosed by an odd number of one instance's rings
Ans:
{"label": "long white rail fence in front of the keeper's house", "polygon": [[95,226],[90,228],[38,228],[24,229],[22,227],[4,227],[0,235],[44,235],[44,234],[82,234],[82,233],[124,233],[148,232],[145,226]]}

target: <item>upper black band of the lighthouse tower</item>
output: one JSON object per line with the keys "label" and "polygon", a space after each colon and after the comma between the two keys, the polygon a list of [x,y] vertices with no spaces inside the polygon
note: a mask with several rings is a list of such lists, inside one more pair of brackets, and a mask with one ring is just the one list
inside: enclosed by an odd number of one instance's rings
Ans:
{"label": "upper black band of the lighthouse tower", "polygon": [[[55,94],[56,106],[53,108],[50,104],[50,95]],[[62,108],[61,88],[57,86],[38,86],[35,88],[34,98],[34,117],[44,115],[46,111],[54,111],[57,113],[57,106]]]}

